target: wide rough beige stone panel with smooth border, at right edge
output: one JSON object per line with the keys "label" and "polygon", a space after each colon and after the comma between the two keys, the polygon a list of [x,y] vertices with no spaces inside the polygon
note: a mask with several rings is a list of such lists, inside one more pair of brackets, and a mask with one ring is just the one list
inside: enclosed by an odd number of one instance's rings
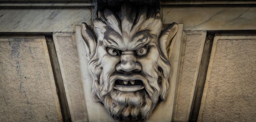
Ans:
{"label": "wide rough beige stone panel with smooth border, at right edge", "polygon": [[198,121],[256,121],[256,36],[216,36]]}

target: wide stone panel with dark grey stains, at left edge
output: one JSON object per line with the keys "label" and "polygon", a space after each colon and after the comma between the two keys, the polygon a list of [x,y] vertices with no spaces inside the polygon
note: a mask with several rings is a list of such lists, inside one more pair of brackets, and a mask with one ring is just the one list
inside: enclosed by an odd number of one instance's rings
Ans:
{"label": "wide stone panel with dark grey stains, at left edge", "polygon": [[0,38],[0,121],[62,121],[44,37]]}

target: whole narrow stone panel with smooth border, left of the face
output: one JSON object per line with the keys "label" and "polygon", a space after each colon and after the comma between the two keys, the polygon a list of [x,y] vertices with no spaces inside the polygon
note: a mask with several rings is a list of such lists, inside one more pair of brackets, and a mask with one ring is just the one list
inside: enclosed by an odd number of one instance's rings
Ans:
{"label": "whole narrow stone panel with smooth border, left of the face", "polygon": [[54,33],[53,40],[61,69],[72,121],[87,121],[81,71],[74,33]]}

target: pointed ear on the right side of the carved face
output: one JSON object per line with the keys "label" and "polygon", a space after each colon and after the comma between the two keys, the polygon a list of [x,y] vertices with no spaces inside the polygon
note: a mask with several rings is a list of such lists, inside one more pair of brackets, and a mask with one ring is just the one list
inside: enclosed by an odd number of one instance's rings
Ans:
{"label": "pointed ear on the right side of the carved face", "polygon": [[172,52],[172,46],[174,45],[175,35],[178,31],[178,24],[172,23],[165,30],[163,30],[159,36],[159,48],[162,54],[167,58]]}

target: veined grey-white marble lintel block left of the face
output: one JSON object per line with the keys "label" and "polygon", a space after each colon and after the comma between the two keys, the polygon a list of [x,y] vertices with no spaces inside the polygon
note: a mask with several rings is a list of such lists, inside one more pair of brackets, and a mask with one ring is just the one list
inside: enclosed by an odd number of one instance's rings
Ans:
{"label": "veined grey-white marble lintel block left of the face", "polygon": [[91,16],[90,8],[0,9],[0,32],[72,32]]}

